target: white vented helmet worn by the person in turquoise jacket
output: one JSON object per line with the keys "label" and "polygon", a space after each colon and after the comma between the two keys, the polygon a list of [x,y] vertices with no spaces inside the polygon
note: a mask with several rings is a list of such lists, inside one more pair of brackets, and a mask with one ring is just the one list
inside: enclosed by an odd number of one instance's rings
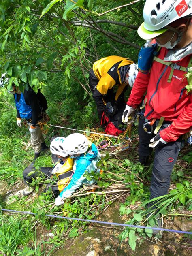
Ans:
{"label": "white vented helmet worn by the person in turquoise jacket", "polygon": [[69,155],[83,154],[87,151],[90,141],[81,133],[68,135],[64,142],[64,150]]}

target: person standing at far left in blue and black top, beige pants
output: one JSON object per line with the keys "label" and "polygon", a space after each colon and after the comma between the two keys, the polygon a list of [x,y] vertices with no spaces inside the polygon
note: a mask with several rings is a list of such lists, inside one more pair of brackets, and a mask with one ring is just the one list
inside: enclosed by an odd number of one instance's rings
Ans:
{"label": "person standing at far left in blue and black top, beige pants", "polygon": [[17,126],[21,127],[21,119],[26,119],[31,134],[31,145],[35,153],[34,159],[36,159],[41,151],[48,149],[38,124],[47,109],[47,100],[40,90],[36,94],[30,87],[22,93],[15,84],[12,87],[17,109]]}

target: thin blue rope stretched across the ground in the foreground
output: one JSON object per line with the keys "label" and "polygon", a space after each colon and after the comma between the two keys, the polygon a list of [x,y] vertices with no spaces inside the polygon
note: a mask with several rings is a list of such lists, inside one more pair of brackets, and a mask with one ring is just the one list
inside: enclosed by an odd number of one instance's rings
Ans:
{"label": "thin blue rope stretched across the ground in the foreground", "polygon": [[[1,209],[1,210],[2,211],[11,211],[11,212],[15,212],[15,213],[32,214],[32,215],[36,214],[36,213],[32,213],[30,211],[15,211],[15,210],[8,210],[8,209]],[[131,227],[131,228],[145,228],[145,229],[162,230],[162,231],[169,231],[169,232],[183,233],[183,234],[192,235],[192,232],[181,231],[181,230],[174,230],[174,229],[152,228],[152,227],[136,226],[136,225],[123,224],[123,223],[105,222],[105,221],[99,221],[99,220],[85,220],[85,219],[70,218],[70,217],[56,216],[56,215],[49,215],[49,214],[45,214],[45,216],[53,217],[53,218],[66,219],[66,220],[79,220],[79,221],[94,222],[94,223],[107,224],[107,225],[124,226],[124,227]]]}

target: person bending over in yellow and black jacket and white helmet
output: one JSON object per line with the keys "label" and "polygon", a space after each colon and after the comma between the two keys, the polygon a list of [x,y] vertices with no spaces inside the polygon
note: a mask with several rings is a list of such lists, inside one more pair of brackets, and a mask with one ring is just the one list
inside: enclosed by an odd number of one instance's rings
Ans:
{"label": "person bending over in yellow and black jacket and white helmet", "polygon": [[[93,64],[90,70],[89,85],[97,105],[101,121],[103,112],[113,116],[118,109],[125,107],[124,92],[127,85],[133,86],[138,73],[138,65],[120,56],[104,57]],[[113,87],[117,85],[114,93]]]}

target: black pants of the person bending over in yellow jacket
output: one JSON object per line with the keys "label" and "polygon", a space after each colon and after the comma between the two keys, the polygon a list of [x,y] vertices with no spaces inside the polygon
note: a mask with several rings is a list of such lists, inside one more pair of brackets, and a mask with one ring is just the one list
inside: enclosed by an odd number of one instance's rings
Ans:
{"label": "black pants of the person bending over in yellow jacket", "polygon": [[[98,78],[96,77],[96,75],[94,74],[94,71],[91,69],[90,70],[90,76],[89,76],[89,85],[90,85],[90,89],[92,91],[92,94],[93,94],[93,98],[96,102],[96,105],[97,105],[97,98],[94,97],[94,90],[98,84],[99,80]],[[116,104],[115,104],[115,92],[113,90],[113,88],[111,89],[108,89],[107,90],[107,94],[103,95],[103,100],[107,103],[107,102],[111,102],[111,105],[114,107],[117,108],[117,111],[116,112],[119,112],[121,109],[125,109],[125,106],[126,106],[126,103],[125,103],[125,99],[124,99],[124,93],[125,91],[127,90],[127,86],[124,88],[124,90],[122,91],[122,93],[119,95],[117,101],[116,101]],[[98,105],[97,105],[97,113],[98,113],[98,118],[101,122],[101,118],[102,118],[102,113],[103,113],[104,109],[103,108],[100,108]],[[122,114],[123,114],[123,111],[122,111]],[[122,115],[121,115],[122,116]],[[116,119],[116,118],[115,118]],[[113,121],[113,117],[111,118],[111,122]]]}

